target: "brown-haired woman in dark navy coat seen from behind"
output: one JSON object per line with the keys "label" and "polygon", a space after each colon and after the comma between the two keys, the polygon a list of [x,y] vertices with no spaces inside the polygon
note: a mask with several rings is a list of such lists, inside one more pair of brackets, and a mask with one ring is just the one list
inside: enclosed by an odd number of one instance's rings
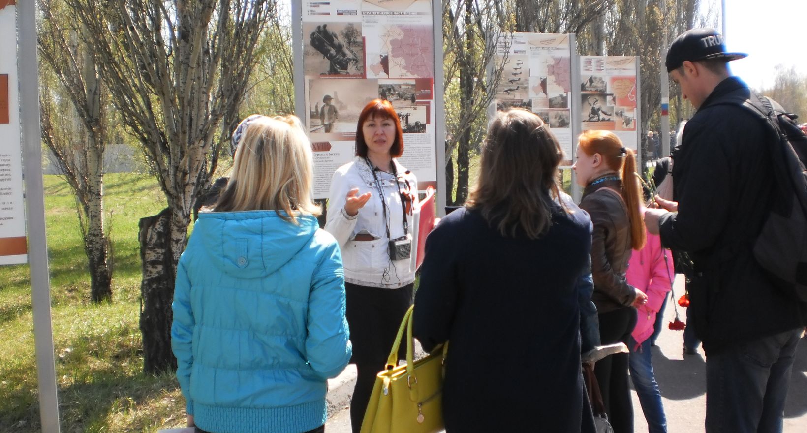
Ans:
{"label": "brown-haired woman in dark navy coat seen from behind", "polygon": [[495,114],[466,206],[429,234],[414,332],[427,351],[449,341],[448,433],[594,429],[578,286],[591,222],[556,183],[562,156],[536,114]]}

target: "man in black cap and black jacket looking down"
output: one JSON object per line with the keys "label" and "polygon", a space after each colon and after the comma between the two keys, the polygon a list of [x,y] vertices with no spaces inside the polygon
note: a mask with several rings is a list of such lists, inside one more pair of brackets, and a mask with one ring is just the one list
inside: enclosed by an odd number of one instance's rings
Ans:
{"label": "man in black cap and black jacket looking down", "polygon": [[784,400],[807,305],[776,289],[751,245],[774,188],[772,130],[737,98],[751,96],[710,28],[684,32],[667,71],[697,112],[673,152],[676,202],[645,214],[667,248],[688,252],[690,317],[706,353],[706,431],[782,431]]}

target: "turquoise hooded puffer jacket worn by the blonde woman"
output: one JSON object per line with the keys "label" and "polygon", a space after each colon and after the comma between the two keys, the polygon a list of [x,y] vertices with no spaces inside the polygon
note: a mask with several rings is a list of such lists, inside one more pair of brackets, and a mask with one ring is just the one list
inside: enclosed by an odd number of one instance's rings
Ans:
{"label": "turquoise hooded puffer jacket worn by the blonde woman", "polygon": [[351,354],[339,246],[312,216],[199,214],[179,260],[171,346],[188,414],[216,433],[324,424]]}

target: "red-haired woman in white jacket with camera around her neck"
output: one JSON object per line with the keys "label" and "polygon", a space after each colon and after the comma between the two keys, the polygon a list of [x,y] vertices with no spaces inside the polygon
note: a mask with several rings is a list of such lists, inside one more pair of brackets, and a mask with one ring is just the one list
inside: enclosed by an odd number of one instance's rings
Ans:
{"label": "red-haired woman in white jacket with camera around her neck", "polygon": [[347,319],[358,379],[350,403],[362,427],[376,374],[412,304],[417,245],[417,180],[399,164],[403,131],[390,102],[375,99],[359,115],[356,156],[333,174],[329,231],[345,264]]}

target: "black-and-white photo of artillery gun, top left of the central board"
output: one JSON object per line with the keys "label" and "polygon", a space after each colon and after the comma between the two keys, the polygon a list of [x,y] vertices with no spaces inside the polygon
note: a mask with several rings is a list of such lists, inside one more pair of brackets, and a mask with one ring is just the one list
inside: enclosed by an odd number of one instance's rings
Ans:
{"label": "black-and-white photo of artillery gun, top left of the central board", "polygon": [[303,23],[307,74],[363,77],[362,23]]}

